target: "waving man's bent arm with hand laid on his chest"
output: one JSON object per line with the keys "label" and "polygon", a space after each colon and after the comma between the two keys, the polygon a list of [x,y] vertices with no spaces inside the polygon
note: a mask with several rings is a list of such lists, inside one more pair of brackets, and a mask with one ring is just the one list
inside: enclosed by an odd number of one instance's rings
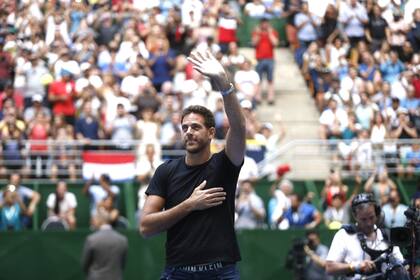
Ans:
{"label": "waving man's bent arm with hand laid on his chest", "polygon": [[151,237],[171,228],[192,211],[205,210],[222,204],[226,199],[223,188],[214,187],[204,190],[205,186],[206,181],[203,181],[194,189],[189,198],[167,210],[163,210],[165,206],[163,197],[149,195],[142,210],[140,233],[144,237]]}

